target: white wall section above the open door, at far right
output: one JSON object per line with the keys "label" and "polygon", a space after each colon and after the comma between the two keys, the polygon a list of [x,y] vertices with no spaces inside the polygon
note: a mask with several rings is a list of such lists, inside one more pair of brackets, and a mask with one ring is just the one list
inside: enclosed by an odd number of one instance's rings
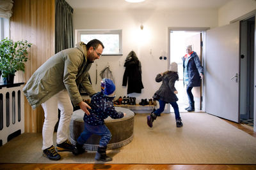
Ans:
{"label": "white wall section above the open door, at far right", "polygon": [[255,0],[232,0],[218,10],[218,25],[222,26],[230,24],[230,21],[255,9]]}

